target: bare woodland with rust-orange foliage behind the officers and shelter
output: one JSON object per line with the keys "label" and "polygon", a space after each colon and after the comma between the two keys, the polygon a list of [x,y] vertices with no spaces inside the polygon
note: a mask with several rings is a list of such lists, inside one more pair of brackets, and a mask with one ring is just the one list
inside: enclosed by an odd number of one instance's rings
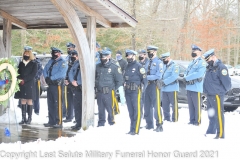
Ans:
{"label": "bare woodland with rust-orange foliage behind the officers and shelter", "polygon": [[[224,63],[239,64],[240,0],[112,0],[138,21],[136,28],[97,29],[97,41],[117,50],[159,47],[173,59],[190,60],[191,44],[215,48]],[[38,53],[59,47],[66,53],[72,41],[68,29],[13,30],[12,54],[30,45]],[[113,56],[115,57],[115,56]]]}

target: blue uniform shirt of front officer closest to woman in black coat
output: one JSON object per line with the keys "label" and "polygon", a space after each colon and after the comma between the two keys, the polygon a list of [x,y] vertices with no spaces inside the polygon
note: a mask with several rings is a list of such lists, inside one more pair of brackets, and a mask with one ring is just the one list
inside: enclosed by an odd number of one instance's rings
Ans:
{"label": "blue uniform shirt of front officer closest to woman in black coat", "polygon": [[58,80],[58,79],[64,79],[66,76],[66,72],[68,69],[66,61],[60,56],[58,59],[56,59],[56,63],[53,65],[51,76],[49,68],[51,67],[51,64],[53,63],[53,59],[50,59],[43,70],[44,77],[49,77],[51,80]]}

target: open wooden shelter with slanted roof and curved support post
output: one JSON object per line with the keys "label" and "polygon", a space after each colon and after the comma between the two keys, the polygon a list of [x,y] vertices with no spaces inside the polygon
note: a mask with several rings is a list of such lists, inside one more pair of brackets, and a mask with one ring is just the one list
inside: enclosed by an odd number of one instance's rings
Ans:
{"label": "open wooden shelter with slanted roof and curved support post", "polygon": [[133,17],[110,0],[0,0],[0,58],[11,56],[12,29],[69,28],[80,58],[82,126],[87,129],[94,123],[96,27],[136,24]]}

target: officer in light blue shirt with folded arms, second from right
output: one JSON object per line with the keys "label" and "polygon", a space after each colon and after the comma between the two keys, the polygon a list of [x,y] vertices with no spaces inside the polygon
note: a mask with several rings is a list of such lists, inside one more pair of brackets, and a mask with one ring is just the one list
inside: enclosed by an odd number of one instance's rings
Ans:
{"label": "officer in light blue shirt with folded arms, second from right", "polygon": [[185,71],[183,82],[186,83],[189,123],[192,125],[201,124],[201,104],[203,92],[203,77],[206,71],[206,62],[201,57],[202,49],[192,45],[192,62]]}

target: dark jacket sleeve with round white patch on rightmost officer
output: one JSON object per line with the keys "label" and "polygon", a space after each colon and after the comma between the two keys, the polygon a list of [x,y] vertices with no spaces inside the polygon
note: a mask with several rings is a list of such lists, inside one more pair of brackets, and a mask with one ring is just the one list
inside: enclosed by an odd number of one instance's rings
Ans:
{"label": "dark jacket sleeve with round white patch on rightmost officer", "polygon": [[229,77],[227,67],[222,65],[219,70],[219,78],[224,86],[226,92],[229,91],[232,87],[231,78]]}

